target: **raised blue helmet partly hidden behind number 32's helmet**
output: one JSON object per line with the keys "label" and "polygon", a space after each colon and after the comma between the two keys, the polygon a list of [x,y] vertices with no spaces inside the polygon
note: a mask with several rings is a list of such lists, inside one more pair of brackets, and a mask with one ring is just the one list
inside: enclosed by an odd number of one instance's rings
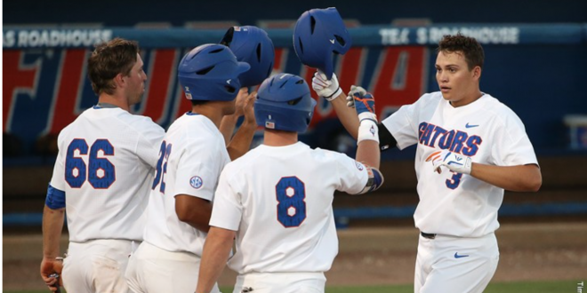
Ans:
{"label": "raised blue helmet partly hidden behind number 32's helmet", "polygon": [[241,86],[262,83],[273,70],[275,49],[267,32],[253,26],[232,27],[224,34],[221,43],[228,46],[238,61],[246,62],[251,69],[238,76]]}

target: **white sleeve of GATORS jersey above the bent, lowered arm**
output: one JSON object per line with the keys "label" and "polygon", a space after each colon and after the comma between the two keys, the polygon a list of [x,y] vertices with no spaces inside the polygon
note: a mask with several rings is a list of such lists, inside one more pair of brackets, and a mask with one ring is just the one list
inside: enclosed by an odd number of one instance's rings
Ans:
{"label": "white sleeve of GATORS jersey above the bent, lowered arm", "polygon": [[495,147],[492,148],[495,164],[498,166],[538,164],[524,123],[513,112],[505,116],[504,122],[495,131]]}

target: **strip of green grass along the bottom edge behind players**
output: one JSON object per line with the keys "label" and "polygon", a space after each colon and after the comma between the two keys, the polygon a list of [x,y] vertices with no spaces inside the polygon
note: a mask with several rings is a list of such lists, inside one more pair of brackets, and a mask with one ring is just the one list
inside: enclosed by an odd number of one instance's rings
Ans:
{"label": "strip of green grass along the bottom edge behind players", "polygon": [[[222,292],[232,292],[232,288],[221,288]],[[326,287],[326,293],[412,293],[412,284],[393,286],[358,286],[358,287]],[[4,293],[47,293],[48,290],[37,291],[4,291]],[[577,281],[514,281],[495,282],[489,284],[485,293],[568,293],[577,292]]]}

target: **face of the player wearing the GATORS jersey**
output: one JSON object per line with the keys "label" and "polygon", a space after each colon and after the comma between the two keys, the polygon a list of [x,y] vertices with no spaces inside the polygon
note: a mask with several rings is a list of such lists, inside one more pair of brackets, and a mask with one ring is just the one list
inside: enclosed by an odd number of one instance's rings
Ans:
{"label": "face of the player wearing the GATORS jersey", "polygon": [[469,70],[460,51],[439,51],[436,58],[436,81],[442,97],[453,107],[469,104],[478,98],[480,68]]}

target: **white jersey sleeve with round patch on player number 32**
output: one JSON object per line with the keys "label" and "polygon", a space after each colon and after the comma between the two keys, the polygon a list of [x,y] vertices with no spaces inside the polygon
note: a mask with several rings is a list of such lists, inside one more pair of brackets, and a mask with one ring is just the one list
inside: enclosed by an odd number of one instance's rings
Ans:
{"label": "white jersey sleeve with round patch on player number 32", "polygon": [[215,145],[188,142],[179,160],[173,196],[187,194],[212,201],[223,167],[221,155]]}

